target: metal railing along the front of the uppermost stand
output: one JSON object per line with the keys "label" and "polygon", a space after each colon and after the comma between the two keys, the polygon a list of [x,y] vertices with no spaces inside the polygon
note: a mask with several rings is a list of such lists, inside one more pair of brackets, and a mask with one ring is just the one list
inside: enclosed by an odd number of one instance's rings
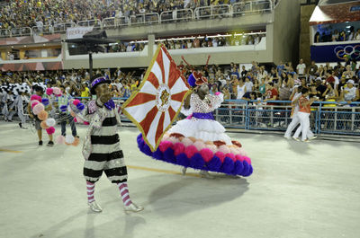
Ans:
{"label": "metal railing along the front of the uppermost stand", "polygon": [[273,0],[253,0],[246,3],[237,4],[219,4],[211,6],[202,6],[193,9],[179,9],[158,13],[142,13],[131,15],[129,18],[109,17],[100,20],[85,20],[80,22],[59,22],[53,26],[44,26],[42,28],[23,27],[9,30],[0,30],[0,37],[15,36],[32,36],[33,34],[51,34],[64,33],[68,27],[74,26],[94,26],[94,29],[109,29],[122,26],[139,25],[139,24],[156,24],[167,22],[183,22],[191,20],[202,20],[212,18],[237,17],[249,13],[266,13],[275,9],[279,1]]}

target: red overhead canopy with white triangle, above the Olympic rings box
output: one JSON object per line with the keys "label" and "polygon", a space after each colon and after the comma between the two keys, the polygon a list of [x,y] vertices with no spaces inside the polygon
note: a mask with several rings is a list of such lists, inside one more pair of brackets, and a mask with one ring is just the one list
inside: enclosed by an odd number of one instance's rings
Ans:
{"label": "red overhead canopy with white triangle, above the Olympic rings box", "polygon": [[310,25],[360,21],[360,3],[328,4],[316,6]]}

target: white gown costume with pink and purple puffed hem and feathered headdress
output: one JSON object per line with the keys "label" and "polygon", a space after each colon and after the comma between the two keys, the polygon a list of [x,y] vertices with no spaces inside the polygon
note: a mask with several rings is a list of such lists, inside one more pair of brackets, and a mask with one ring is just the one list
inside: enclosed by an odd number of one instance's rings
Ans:
{"label": "white gown costume with pink and purple puffed hem and feathered headdress", "polygon": [[[188,83],[196,87],[206,84],[207,79],[193,73]],[[189,117],[177,121],[166,132],[155,152],[151,152],[140,134],[137,138],[139,150],[157,160],[185,168],[249,176],[253,167],[242,145],[231,141],[225,128],[213,118],[212,111],[219,108],[222,101],[222,93],[207,94],[203,100],[193,93],[190,110],[186,110]]]}

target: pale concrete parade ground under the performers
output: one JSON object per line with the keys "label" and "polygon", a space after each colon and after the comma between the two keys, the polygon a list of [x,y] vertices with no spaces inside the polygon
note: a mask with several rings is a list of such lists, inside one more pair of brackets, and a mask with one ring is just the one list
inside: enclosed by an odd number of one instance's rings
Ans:
{"label": "pale concrete parade ground under the performers", "polygon": [[229,133],[254,173],[207,180],[141,154],[138,130],[120,130],[139,214],[124,214],[104,175],[95,190],[103,212],[89,211],[81,145],[40,147],[31,129],[1,122],[0,237],[360,237],[358,143]]}

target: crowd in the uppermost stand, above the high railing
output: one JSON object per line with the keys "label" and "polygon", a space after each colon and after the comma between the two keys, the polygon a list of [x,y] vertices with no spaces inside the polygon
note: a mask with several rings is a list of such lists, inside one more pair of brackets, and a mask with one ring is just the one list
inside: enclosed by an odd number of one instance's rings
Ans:
{"label": "crowd in the uppermost stand, above the high railing", "polygon": [[0,30],[37,26],[56,28],[62,22],[131,17],[199,6],[234,4],[247,0],[14,0],[0,8]]}

